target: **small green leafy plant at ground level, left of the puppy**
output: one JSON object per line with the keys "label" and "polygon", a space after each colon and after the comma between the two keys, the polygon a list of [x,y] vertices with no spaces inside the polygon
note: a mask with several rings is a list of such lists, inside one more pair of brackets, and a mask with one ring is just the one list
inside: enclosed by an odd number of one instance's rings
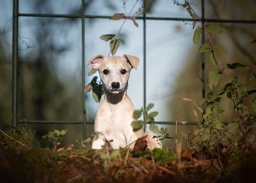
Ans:
{"label": "small green leafy plant at ground level, left of the puppy", "polygon": [[67,133],[67,130],[63,129],[59,131],[58,129],[54,129],[54,131],[50,131],[47,135],[43,135],[42,138],[48,138],[49,142],[52,143],[53,150],[58,150],[58,145],[60,142],[58,140],[62,139],[63,136]]}

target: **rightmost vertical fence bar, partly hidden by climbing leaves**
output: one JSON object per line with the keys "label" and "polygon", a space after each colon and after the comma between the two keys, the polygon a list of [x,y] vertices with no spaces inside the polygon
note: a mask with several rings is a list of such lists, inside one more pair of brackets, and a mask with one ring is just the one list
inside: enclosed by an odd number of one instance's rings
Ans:
{"label": "rightmost vertical fence bar, partly hidden by climbing leaves", "polygon": [[[201,12],[202,12],[202,22],[205,22],[205,11],[204,11],[204,0],[201,1]],[[202,45],[205,43],[205,30],[202,31]],[[201,61],[202,61],[202,98],[205,98],[205,53],[201,53]],[[205,113],[205,104],[202,105],[202,109]]]}

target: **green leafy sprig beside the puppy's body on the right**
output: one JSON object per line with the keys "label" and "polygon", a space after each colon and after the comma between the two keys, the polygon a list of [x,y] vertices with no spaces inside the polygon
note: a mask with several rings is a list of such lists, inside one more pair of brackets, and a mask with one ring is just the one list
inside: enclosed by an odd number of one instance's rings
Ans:
{"label": "green leafy sprig beside the puppy's body on the right", "polygon": [[[143,128],[144,126],[147,126],[149,124],[149,129],[155,133],[160,133],[159,129],[157,128],[155,124],[155,119],[154,117],[157,116],[158,112],[150,112],[148,113],[149,110],[151,110],[154,107],[154,104],[150,103],[146,108],[141,108],[139,110],[134,110],[133,112],[133,118],[135,119],[132,122],[132,128],[133,131],[138,131],[139,129]],[[138,118],[143,115],[143,121],[139,120]]]}

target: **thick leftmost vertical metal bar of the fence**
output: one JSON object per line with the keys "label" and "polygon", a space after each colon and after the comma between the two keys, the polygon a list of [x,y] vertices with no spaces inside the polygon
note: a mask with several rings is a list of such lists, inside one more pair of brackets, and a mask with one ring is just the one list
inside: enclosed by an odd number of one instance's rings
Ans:
{"label": "thick leftmost vertical metal bar of the fence", "polygon": [[18,124],[18,34],[19,34],[19,0],[13,0],[12,27],[12,125]]}

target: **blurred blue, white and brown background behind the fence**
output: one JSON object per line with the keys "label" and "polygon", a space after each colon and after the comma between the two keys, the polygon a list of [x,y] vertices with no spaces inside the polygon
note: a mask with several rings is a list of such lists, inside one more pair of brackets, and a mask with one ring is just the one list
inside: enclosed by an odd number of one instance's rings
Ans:
{"label": "blurred blue, white and brown background behind the fence", "polygon": [[[173,122],[178,121],[178,138],[184,144],[189,131],[202,117],[202,112],[196,107],[200,106],[202,99],[202,58],[198,52],[200,45],[193,45],[192,22],[186,20],[191,17],[186,9],[174,2],[148,0],[146,16],[151,18],[145,20],[145,43],[143,20],[136,20],[138,27],[127,20],[120,33],[122,44],[115,55],[130,54],[140,58],[138,70],[131,72],[128,89],[135,108],[143,107],[144,103],[154,103],[152,111],[159,112],[156,117],[156,122],[161,123],[158,124],[159,128],[168,128],[168,133],[174,136]],[[222,33],[214,34],[218,57],[223,65],[243,62],[249,66],[248,73],[239,74],[239,78],[246,80],[256,66],[256,46],[252,43],[256,38],[256,1],[207,0],[202,7],[203,2],[189,1],[200,18],[203,10],[204,18],[217,20],[220,24]],[[85,48],[82,50],[79,16],[47,16],[81,15],[82,1],[19,0],[19,13],[45,15],[19,17],[19,121],[27,122],[29,129],[35,131],[33,140],[36,147],[46,147],[48,142],[42,139],[42,135],[54,129],[68,129],[61,145],[83,140],[83,124],[49,123],[82,122],[83,103],[88,122],[86,137],[93,135],[93,121],[99,104],[93,100],[92,92],[83,93],[82,78],[85,78],[86,85],[95,76],[88,76],[91,68],[83,68],[83,62],[87,63],[97,54],[109,54],[109,42],[100,40],[100,36],[117,34],[124,20],[109,20],[105,16],[114,13],[128,15],[132,10],[130,15],[142,17],[140,8],[143,8],[143,1],[84,0],[84,15],[91,17],[84,20]],[[13,2],[1,0],[0,128],[6,131],[12,126],[12,13]],[[212,66],[205,57],[206,77]],[[227,77],[233,76],[234,73],[230,72]],[[207,82],[206,78],[206,93],[209,92]],[[234,117],[233,113],[228,112],[228,102],[221,107],[225,108],[224,121]],[[164,141],[164,147],[173,148],[173,142],[173,139]]]}

